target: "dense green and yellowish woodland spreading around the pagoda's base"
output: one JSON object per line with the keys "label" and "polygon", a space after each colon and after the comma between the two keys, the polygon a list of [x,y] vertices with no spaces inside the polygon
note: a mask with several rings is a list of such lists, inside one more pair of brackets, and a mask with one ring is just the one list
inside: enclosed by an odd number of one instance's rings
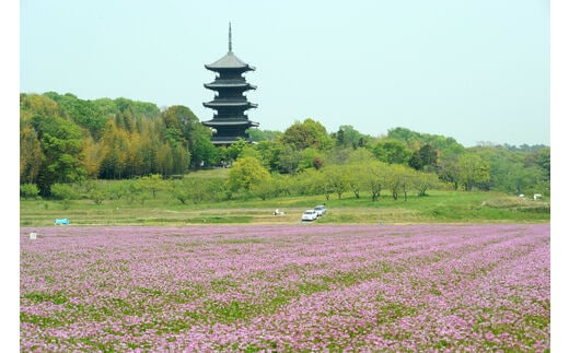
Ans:
{"label": "dense green and yellowish woodland spreading around the pagoda's base", "polygon": [[231,167],[228,190],[263,198],[289,192],[280,187],[287,178],[303,180],[298,192],[338,198],[360,190],[372,199],[382,190],[397,198],[436,187],[549,195],[546,145],[464,148],[400,127],[381,137],[349,125],[328,132],[311,118],[282,132],[248,132],[254,144],[216,148],[212,131],[185,106],[161,110],[127,98],[21,93],[21,195],[51,197],[54,186],[95,179],[176,179],[212,167]]}

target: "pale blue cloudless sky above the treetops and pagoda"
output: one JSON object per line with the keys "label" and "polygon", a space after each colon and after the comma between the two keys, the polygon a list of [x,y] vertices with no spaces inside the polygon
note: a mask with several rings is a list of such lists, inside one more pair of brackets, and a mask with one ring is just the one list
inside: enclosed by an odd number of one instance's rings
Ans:
{"label": "pale blue cloudless sky above the treetops and pagoda", "polygon": [[260,129],[404,127],[478,142],[549,144],[549,1],[20,2],[20,91],[127,97],[213,111],[204,68],[228,51]]}

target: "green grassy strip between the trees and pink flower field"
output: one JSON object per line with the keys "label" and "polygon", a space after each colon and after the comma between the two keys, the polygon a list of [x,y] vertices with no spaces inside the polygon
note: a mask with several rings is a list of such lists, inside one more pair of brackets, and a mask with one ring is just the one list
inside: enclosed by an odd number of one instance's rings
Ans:
{"label": "green grassy strip between the trees and pink flower field", "polygon": [[[376,202],[362,192],[359,199],[346,193],[340,200],[335,196],[329,200],[307,196],[182,204],[162,191],[156,199],[143,203],[124,199],[105,200],[102,204],[91,200],[21,200],[20,225],[53,225],[60,217],[69,219],[71,225],[293,224],[300,223],[304,210],[321,203],[326,204],[328,213],[315,223],[549,222],[548,200],[533,201],[501,192],[429,191],[426,197],[409,196],[407,201],[403,197],[393,200],[384,192]],[[284,215],[275,216],[275,209]]]}

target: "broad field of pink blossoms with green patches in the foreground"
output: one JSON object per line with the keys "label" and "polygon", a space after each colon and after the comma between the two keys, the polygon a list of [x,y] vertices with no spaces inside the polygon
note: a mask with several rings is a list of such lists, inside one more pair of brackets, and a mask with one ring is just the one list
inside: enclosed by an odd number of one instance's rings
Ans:
{"label": "broad field of pink blossoms with green patches in the foreground", "polygon": [[549,224],[22,227],[20,244],[22,352],[550,345]]}

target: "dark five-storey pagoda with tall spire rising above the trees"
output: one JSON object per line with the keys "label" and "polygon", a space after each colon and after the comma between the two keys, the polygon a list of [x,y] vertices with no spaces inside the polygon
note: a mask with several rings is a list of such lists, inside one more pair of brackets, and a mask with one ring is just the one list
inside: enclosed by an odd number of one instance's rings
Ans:
{"label": "dark five-storey pagoda with tall spire rising above the trees", "polygon": [[256,108],[257,105],[249,103],[244,93],[257,87],[247,83],[243,73],[254,71],[255,68],[243,62],[233,54],[231,23],[229,24],[228,54],[218,61],[206,64],[206,69],[217,73],[213,82],[204,84],[206,89],[217,93],[213,101],[204,103],[205,107],[217,111],[213,119],[201,122],[216,130],[211,137],[211,142],[216,145],[230,145],[237,138],[251,142],[245,130],[249,127],[258,127],[258,122],[251,121],[245,111],[249,108]]}

